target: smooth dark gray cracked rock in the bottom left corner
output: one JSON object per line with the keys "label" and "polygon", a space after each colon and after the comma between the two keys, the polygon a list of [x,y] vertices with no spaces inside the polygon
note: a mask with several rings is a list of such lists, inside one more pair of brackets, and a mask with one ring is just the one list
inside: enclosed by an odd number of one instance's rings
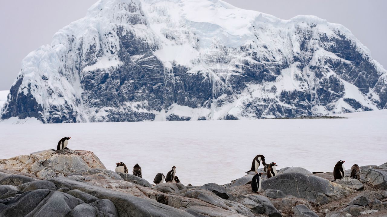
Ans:
{"label": "smooth dark gray cracked rock in the bottom left corner", "polygon": [[22,193],[11,200],[0,202],[0,216],[65,217],[81,200],[63,192],[38,189]]}

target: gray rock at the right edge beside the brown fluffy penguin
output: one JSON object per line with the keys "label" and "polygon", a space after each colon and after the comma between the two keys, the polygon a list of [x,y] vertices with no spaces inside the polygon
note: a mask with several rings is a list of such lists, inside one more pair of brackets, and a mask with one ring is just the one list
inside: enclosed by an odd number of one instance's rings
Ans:
{"label": "gray rock at the right edge beside the brown fluffy penguin", "polygon": [[361,169],[360,173],[368,185],[387,189],[387,171],[382,169],[364,168]]}

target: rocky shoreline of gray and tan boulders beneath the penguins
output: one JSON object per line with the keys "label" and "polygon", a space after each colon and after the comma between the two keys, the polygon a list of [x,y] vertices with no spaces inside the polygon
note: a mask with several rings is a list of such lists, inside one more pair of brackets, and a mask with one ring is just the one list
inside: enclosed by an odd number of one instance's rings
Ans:
{"label": "rocky shoreline of gray and tan boulders beneath the penguins", "polygon": [[225,185],[153,185],[106,170],[90,151],[46,150],[0,160],[0,216],[387,216],[387,163],[361,166],[360,181],[283,168],[262,181],[260,193],[251,190],[252,176]]}

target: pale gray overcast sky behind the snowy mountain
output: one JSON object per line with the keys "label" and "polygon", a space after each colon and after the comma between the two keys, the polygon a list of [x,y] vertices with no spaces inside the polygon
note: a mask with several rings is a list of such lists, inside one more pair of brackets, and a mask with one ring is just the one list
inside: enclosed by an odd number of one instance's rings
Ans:
{"label": "pale gray overcast sky behind the snowy mountain", "polygon": [[[347,27],[387,66],[387,1],[385,0],[225,0],[281,19],[316,15]],[[59,29],[86,15],[96,0],[5,0],[0,7],[0,90],[9,90],[22,59],[50,44]]]}

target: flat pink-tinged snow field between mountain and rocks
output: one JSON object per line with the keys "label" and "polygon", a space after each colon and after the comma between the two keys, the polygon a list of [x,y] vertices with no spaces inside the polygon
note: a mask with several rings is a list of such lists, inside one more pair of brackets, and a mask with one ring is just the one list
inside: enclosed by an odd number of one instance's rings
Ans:
{"label": "flat pink-tinged snow field between mountain and rocks", "polygon": [[123,161],[143,177],[176,166],[184,184],[225,184],[245,175],[257,154],[279,168],[332,171],[339,160],[387,162],[387,110],[343,114],[348,119],[267,119],[78,124],[0,123],[0,159],[55,148],[70,136],[70,149],[93,151],[109,170]]}

